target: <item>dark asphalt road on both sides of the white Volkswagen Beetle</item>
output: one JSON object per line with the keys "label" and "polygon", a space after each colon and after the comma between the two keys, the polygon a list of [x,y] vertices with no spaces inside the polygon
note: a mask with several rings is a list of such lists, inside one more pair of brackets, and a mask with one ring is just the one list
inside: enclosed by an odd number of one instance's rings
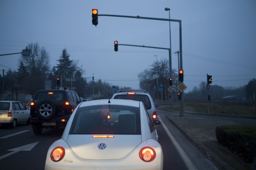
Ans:
{"label": "dark asphalt road on both sides of the white Volkswagen Beetle", "polygon": [[[159,112],[159,142],[164,154],[163,169],[217,169]],[[1,169],[44,169],[50,145],[61,138],[64,128],[43,129],[35,136],[31,125],[18,124],[16,129],[0,126]]]}

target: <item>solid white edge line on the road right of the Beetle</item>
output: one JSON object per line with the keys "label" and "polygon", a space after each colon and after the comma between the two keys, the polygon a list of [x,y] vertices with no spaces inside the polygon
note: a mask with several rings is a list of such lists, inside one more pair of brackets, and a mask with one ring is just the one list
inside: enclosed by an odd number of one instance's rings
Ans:
{"label": "solid white edge line on the road right of the Beetle", "polygon": [[[161,117],[158,115],[158,118],[161,121],[161,124],[165,130],[165,132],[167,133],[167,135],[169,136],[170,140],[172,140],[175,148],[177,149],[177,151],[179,152],[182,160],[184,161],[185,165],[187,166],[188,169],[197,169],[196,166],[193,164],[193,162],[191,162],[191,160],[188,158],[188,156],[186,155],[186,153],[183,151],[183,149],[181,148],[181,146],[179,145],[179,143],[177,142],[177,140],[174,138],[174,136],[172,135],[172,133],[170,133],[170,131],[168,130],[168,128],[166,127],[166,125],[163,123]],[[160,136],[161,137],[161,136]]]}

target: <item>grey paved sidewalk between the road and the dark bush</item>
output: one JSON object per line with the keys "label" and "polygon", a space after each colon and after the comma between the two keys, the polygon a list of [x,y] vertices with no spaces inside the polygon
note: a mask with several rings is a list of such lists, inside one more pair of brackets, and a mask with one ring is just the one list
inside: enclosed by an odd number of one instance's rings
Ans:
{"label": "grey paved sidewalk between the road and the dark bush", "polygon": [[218,169],[253,169],[252,163],[244,162],[242,158],[220,145],[216,139],[217,126],[235,125],[236,123],[213,118],[165,116]]}

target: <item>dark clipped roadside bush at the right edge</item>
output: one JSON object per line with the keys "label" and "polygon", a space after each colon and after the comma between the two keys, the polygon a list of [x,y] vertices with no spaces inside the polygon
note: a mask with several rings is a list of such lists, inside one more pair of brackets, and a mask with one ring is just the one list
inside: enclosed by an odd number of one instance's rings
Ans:
{"label": "dark clipped roadside bush at the right edge", "polygon": [[253,162],[256,156],[256,125],[230,125],[216,128],[216,137],[220,144],[245,162]]}

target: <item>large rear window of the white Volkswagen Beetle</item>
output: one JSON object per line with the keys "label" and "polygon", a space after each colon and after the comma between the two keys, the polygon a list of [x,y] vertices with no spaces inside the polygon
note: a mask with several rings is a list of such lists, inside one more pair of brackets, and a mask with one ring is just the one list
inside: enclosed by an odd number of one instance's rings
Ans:
{"label": "large rear window of the white Volkswagen Beetle", "polygon": [[80,107],[69,134],[141,134],[140,109],[120,105]]}

